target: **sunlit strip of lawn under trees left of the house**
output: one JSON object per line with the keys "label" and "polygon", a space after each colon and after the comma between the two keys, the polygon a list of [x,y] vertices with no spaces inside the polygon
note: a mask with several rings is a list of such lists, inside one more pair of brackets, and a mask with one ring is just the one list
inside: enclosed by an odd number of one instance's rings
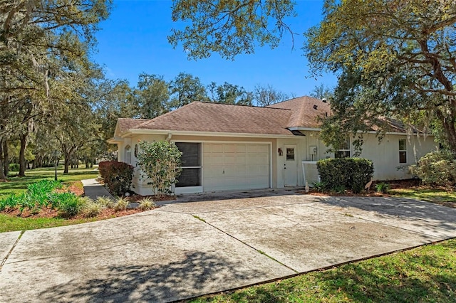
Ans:
{"label": "sunlit strip of lawn under trees left of the house", "polygon": [[[94,171],[95,168],[70,169],[68,174],[63,174],[63,166],[58,166],[57,169],[57,178],[63,182],[93,179],[98,176],[98,171]],[[0,199],[12,193],[21,193],[26,190],[28,184],[43,179],[54,179],[54,169],[52,167],[28,169],[25,177],[18,177],[16,172],[11,172],[7,182],[0,182]]]}

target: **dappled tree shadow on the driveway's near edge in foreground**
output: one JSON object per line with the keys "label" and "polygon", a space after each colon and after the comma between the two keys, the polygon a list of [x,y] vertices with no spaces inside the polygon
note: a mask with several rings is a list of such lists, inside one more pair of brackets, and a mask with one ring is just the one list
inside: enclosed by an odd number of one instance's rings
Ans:
{"label": "dappled tree shadow on the driveway's near edge in foreground", "polygon": [[246,285],[252,277],[261,280],[261,272],[242,271],[242,268],[245,268],[242,262],[224,260],[216,254],[188,252],[180,262],[164,265],[101,268],[100,277],[56,285],[41,292],[39,299],[43,302],[170,302]]}

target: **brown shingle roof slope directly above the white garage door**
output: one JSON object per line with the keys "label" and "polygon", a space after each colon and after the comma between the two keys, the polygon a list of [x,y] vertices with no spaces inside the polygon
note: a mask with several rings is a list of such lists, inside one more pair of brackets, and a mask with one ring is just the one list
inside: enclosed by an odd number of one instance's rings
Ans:
{"label": "brown shingle roof slope directly above the white garage door", "polygon": [[192,102],[135,129],[292,135],[286,129],[291,113],[286,109]]}

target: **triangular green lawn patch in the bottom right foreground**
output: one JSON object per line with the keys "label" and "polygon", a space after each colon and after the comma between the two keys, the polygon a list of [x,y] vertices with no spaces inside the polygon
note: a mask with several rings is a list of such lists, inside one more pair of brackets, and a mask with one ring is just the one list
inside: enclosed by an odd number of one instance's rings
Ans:
{"label": "triangular green lawn patch in the bottom right foreground", "polygon": [[190,302],[456,302],[456,240]]}

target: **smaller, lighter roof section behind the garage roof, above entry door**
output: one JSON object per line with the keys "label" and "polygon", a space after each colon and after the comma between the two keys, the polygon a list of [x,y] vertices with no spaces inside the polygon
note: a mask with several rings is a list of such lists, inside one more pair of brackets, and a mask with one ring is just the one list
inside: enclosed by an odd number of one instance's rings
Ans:
{"label": "smaller, lighter roof section behind the garage roof, above entry door", "polygon": [[291,110],[293,113],[287,127],[320,127],[317,117],[326,117],[331,108],[328,103],[313,97],[298,97],[284,102],[270,105],[272,108]]}

